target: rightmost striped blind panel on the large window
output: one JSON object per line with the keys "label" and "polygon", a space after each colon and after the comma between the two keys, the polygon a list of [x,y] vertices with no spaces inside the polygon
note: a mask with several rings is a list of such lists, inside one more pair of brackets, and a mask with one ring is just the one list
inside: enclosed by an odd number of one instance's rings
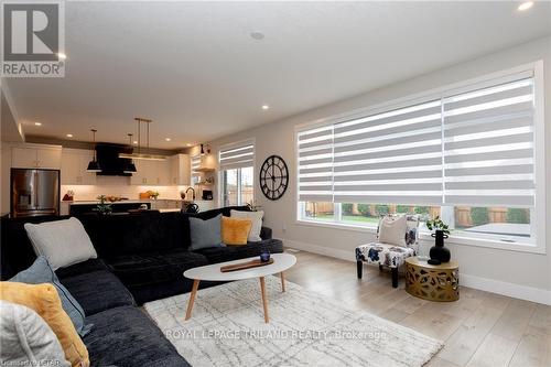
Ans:
{"label": "rightmost striped blind panel on the large window", "polygon": [[444,203],[534,205],[533,78],[443,99]]}

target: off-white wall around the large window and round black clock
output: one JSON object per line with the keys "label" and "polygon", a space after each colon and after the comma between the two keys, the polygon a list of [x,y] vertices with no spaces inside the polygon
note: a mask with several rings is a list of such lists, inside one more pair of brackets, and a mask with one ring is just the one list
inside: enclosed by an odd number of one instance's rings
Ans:
{"label": "off-white wall around the large window and round black clock", "polygon": [[[285,195],[277,202],[271,202],[266,199],[259,190],[256,191],[257,199],[266,211],[267,225],[272,227],[274,236],[284,239],[288,246],[353,259],[354,248],[374,240],[372,234],[312,227],[295,223],[295,126],[408,97],[538,60],[544,62],[545,83],[547,255],[455,244],[451,244],[450,248],[453,259],[460,262],[463,284],[551,304],[551,226],[549,224],[551,218],[551,36],[331,104],[279,122],[235,133],[213,142],[212,148],[216,153],[217,147],[222,144],[255,138],[257,172],[268,155],[281,155],[291,170],[291,182]],[[403,62],[407,62],[407,57]],[[331,86],[327,87],[331,88]],[[278,107],[273,106],[273,108]],[[425,253],[428,248],[432,246],[430,242],[421,245],[422,252]],[[355,277],[355,274],[350,273],[350,277]]]}

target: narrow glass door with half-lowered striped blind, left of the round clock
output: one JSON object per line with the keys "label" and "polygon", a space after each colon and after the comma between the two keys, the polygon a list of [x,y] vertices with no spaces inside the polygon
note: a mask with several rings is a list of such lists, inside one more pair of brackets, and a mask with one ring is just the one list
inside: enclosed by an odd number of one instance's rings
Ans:
{"label": "narrow glass door with half-lowered striped blind, left of the round clock", "polygon": [[250,141],[226,145],[218,154],[220,203],[245,205],[253,199],[255,144]]}

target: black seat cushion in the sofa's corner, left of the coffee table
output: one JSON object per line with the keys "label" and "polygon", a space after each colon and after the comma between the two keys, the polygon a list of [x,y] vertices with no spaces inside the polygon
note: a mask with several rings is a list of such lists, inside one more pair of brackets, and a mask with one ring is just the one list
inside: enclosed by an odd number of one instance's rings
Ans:
{"label": "black seat cushion in the sofa's corner, left of the coffee table", "polygon": [[204,256],[184,249],[126,255],[108,261],[109,269],[129,288],[183,279],[185,270],[204,265],[208,265]]}

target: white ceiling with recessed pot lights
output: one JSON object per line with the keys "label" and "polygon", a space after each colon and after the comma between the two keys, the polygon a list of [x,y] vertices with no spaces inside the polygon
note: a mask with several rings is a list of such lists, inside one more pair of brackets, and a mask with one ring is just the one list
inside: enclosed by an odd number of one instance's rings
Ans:
{"label": "white ceiling with recessed pot lights", "polygon": [[176,149],[551,33],[518,4],[66,2],[65,78],[9,88],[26,134],[125,143],[141,116]]}

